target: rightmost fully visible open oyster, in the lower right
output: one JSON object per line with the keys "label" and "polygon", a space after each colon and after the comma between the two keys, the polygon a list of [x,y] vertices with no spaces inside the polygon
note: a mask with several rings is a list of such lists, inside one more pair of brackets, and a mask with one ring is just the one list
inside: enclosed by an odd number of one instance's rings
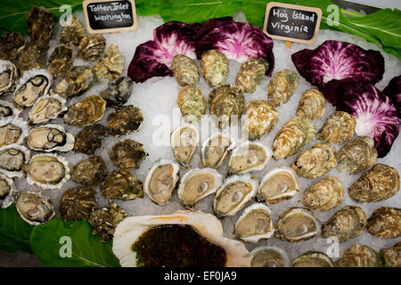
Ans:
{"label": "rightmost fully visible open oyster, in the lower right", "polygon": [[274,237],[291,242],[310,240],[320,232],[320,223],[308,208],[292,207],[282,212],[275,224]]}

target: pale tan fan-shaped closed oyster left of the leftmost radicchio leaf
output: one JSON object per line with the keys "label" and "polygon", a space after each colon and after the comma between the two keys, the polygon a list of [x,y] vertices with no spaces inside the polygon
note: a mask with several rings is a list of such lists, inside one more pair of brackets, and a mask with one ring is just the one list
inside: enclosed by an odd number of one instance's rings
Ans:
{"label": "pale tan fan-shaped closed oyster left of the leftmost radicchio leaf", "polygon": [[125,69],[125,58],[119,46],[111,44],[101,61],[94,64],[94,75],[97,80],[113,80],[119,77]]}

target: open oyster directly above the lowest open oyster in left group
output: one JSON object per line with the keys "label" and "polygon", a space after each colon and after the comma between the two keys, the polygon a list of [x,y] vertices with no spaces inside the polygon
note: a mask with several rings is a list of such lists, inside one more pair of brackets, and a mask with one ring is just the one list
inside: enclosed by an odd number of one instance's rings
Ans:
{"label": "open oyster directly above the lowest open oyster in left group", "polygon": [[53,153],[33,156],[27,167],[27,181],[43,189],[58,189],[70,179],[67,159]]}

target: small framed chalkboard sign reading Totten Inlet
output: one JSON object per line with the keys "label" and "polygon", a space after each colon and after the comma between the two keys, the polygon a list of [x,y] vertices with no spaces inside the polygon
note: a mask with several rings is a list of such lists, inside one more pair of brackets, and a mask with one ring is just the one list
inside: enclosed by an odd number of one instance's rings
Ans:
{"label": "small framed chalkboard sign reading Totten Inlet", "polygon": [[86,0],[82,4],[91,34],[133,30],[137,27],[134,0]]}

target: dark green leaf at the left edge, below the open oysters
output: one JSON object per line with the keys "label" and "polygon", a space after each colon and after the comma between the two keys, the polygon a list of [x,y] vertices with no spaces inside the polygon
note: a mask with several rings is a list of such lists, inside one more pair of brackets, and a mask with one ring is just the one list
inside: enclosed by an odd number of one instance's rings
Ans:
{"label": "dark green leaf at the left edge, below the open oysters", "polygon": [[0,250],[6,252],[32,252],[30,233],[33,225],[21,219],[12,204],[8,208],[0,208]]}

